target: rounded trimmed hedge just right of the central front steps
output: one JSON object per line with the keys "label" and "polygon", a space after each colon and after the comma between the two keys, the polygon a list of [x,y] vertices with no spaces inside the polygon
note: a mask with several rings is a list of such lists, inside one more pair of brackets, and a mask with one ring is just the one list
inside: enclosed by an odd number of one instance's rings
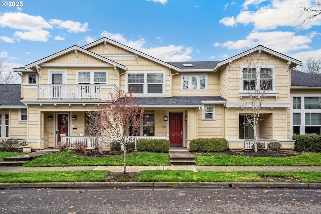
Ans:
{"label": "rounded trimmed hedge just right of the central front steps", "polygon": [[227,141],[224,138],[197,138],[189,141],[192,152],[219,152],[227,150]]}

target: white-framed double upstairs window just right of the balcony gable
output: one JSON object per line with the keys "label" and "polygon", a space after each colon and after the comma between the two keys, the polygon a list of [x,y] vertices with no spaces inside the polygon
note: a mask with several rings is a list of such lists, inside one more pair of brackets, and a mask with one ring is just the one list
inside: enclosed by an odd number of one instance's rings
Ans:
{"label": "white-framed double upstairs window just right of the balcony gable", "polygon": [[130,72],[127,73],[127,91],[133,87],[134,94],[165,94],[164,72]]}

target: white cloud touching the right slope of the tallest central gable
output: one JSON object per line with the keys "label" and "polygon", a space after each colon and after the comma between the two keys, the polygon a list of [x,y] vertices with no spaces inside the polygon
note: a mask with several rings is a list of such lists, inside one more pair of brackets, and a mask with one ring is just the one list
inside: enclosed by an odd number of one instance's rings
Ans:
{"label": "white cloud touching the right slope of the tallest central gable", "polygon": [[103,31],[100,37],[108,37],[109,39],[115,40],[119,43],[122,43],[126,46],[139,50],[163,61],[188,61],[192,59],[191,56],[188,56],[193,50],[193,48],[191,47],[185,48],[184,46],[169,45],[146,49],[143,48],[143,45],[145,44],[144,39],[136,41],[127,40],[127,38],[124,38],[122,34],[113,34],[107,31]]}

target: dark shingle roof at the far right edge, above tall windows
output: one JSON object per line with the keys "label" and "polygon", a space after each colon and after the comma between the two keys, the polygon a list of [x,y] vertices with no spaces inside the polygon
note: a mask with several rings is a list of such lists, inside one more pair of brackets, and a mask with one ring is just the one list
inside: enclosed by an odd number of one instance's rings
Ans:
{"label": "dark shingle roof at the far right edge, above tall windows", "polygon": [[291,70],[291,86],[321,86],[321,75]]}

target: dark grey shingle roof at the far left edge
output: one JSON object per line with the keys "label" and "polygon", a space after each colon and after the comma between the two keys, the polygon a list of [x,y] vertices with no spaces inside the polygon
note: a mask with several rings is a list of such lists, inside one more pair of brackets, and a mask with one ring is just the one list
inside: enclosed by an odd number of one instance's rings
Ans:
{"label": "dark grey shingle roof at the far left edge", "polygon": [[21,105],[21,85],[0,85],[0,105]]}

